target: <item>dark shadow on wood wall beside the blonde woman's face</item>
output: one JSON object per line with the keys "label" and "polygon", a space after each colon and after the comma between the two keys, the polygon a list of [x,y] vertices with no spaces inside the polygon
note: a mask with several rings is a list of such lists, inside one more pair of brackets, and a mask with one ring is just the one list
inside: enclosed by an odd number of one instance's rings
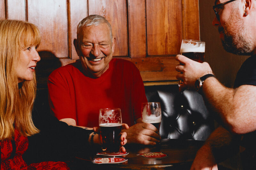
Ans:
{"label": "dark shadow on wood wall beside the blonde woman's face", "polygon": [[61,62],[60,59],[50,51],[40,51],[38,54],[41,60],[36,66],[37,89],[47,89],[48,76],[53,70],[61,67]]}

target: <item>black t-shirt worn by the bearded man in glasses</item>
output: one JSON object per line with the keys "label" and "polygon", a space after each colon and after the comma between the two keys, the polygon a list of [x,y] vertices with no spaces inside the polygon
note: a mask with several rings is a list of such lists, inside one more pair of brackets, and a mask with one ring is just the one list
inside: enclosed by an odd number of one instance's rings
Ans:
{"label": "black t-shirt worn by the bearded man in glasses", "polygon": [[[237,72],[234,88],[237,88],[241,85],[256,86],[256,55],[251,56],[245,60]],[[244,111],[246,112],[246,108]],[[241,146],[245,148],[245,151],[241,152],[243,168],[256,169],[256,131],[245,134],[241,141]]]}

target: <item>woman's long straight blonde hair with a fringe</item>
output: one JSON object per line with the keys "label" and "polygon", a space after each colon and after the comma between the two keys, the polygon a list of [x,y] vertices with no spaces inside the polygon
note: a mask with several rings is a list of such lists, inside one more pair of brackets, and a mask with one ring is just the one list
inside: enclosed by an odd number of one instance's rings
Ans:
{"label": "woman's long straight blonde hair with a fringe", "polygon": [[38,28],[25,21],[0,21],[0,141],[12,139],[14,128],[21,135],[39,132],[31,111],[36,96],[36,76],[18,87],[16,67],[20,50],[40,44]]}

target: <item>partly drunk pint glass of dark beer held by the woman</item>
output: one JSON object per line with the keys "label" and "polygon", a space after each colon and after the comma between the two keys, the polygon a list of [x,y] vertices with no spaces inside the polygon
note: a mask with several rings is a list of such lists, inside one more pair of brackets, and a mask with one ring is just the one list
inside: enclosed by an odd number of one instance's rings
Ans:
{"label": "partly drunk pint glass of dark beer held by the woman", "polygon": [[100,109],[99,126],[102,136],[102,151],[106,153],[120,152],[120,135],[122,130],[121,109]]}

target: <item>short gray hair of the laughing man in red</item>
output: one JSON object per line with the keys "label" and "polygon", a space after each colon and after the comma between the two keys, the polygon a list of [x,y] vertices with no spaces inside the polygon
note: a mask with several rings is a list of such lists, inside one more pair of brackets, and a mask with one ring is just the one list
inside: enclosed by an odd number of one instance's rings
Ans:
{"label": "short gray hair of the laughing man in red", "polygon": [[112,41],[112,39],[113,39],[112,27],[109,24],[108,20],[100,15],[89,15],[89,16],[85,17],[84,19],[82,19],[82,21],[79,22],[79,24],[77,25],[77,35],[76,35],[77,39],[81,33],[82,28],[91,26],[91,25],[97,26],[97,25],[104,24],[104,23],[108,25],[108,28],[110,31],[109,35],[110,35],[110,39]]}

